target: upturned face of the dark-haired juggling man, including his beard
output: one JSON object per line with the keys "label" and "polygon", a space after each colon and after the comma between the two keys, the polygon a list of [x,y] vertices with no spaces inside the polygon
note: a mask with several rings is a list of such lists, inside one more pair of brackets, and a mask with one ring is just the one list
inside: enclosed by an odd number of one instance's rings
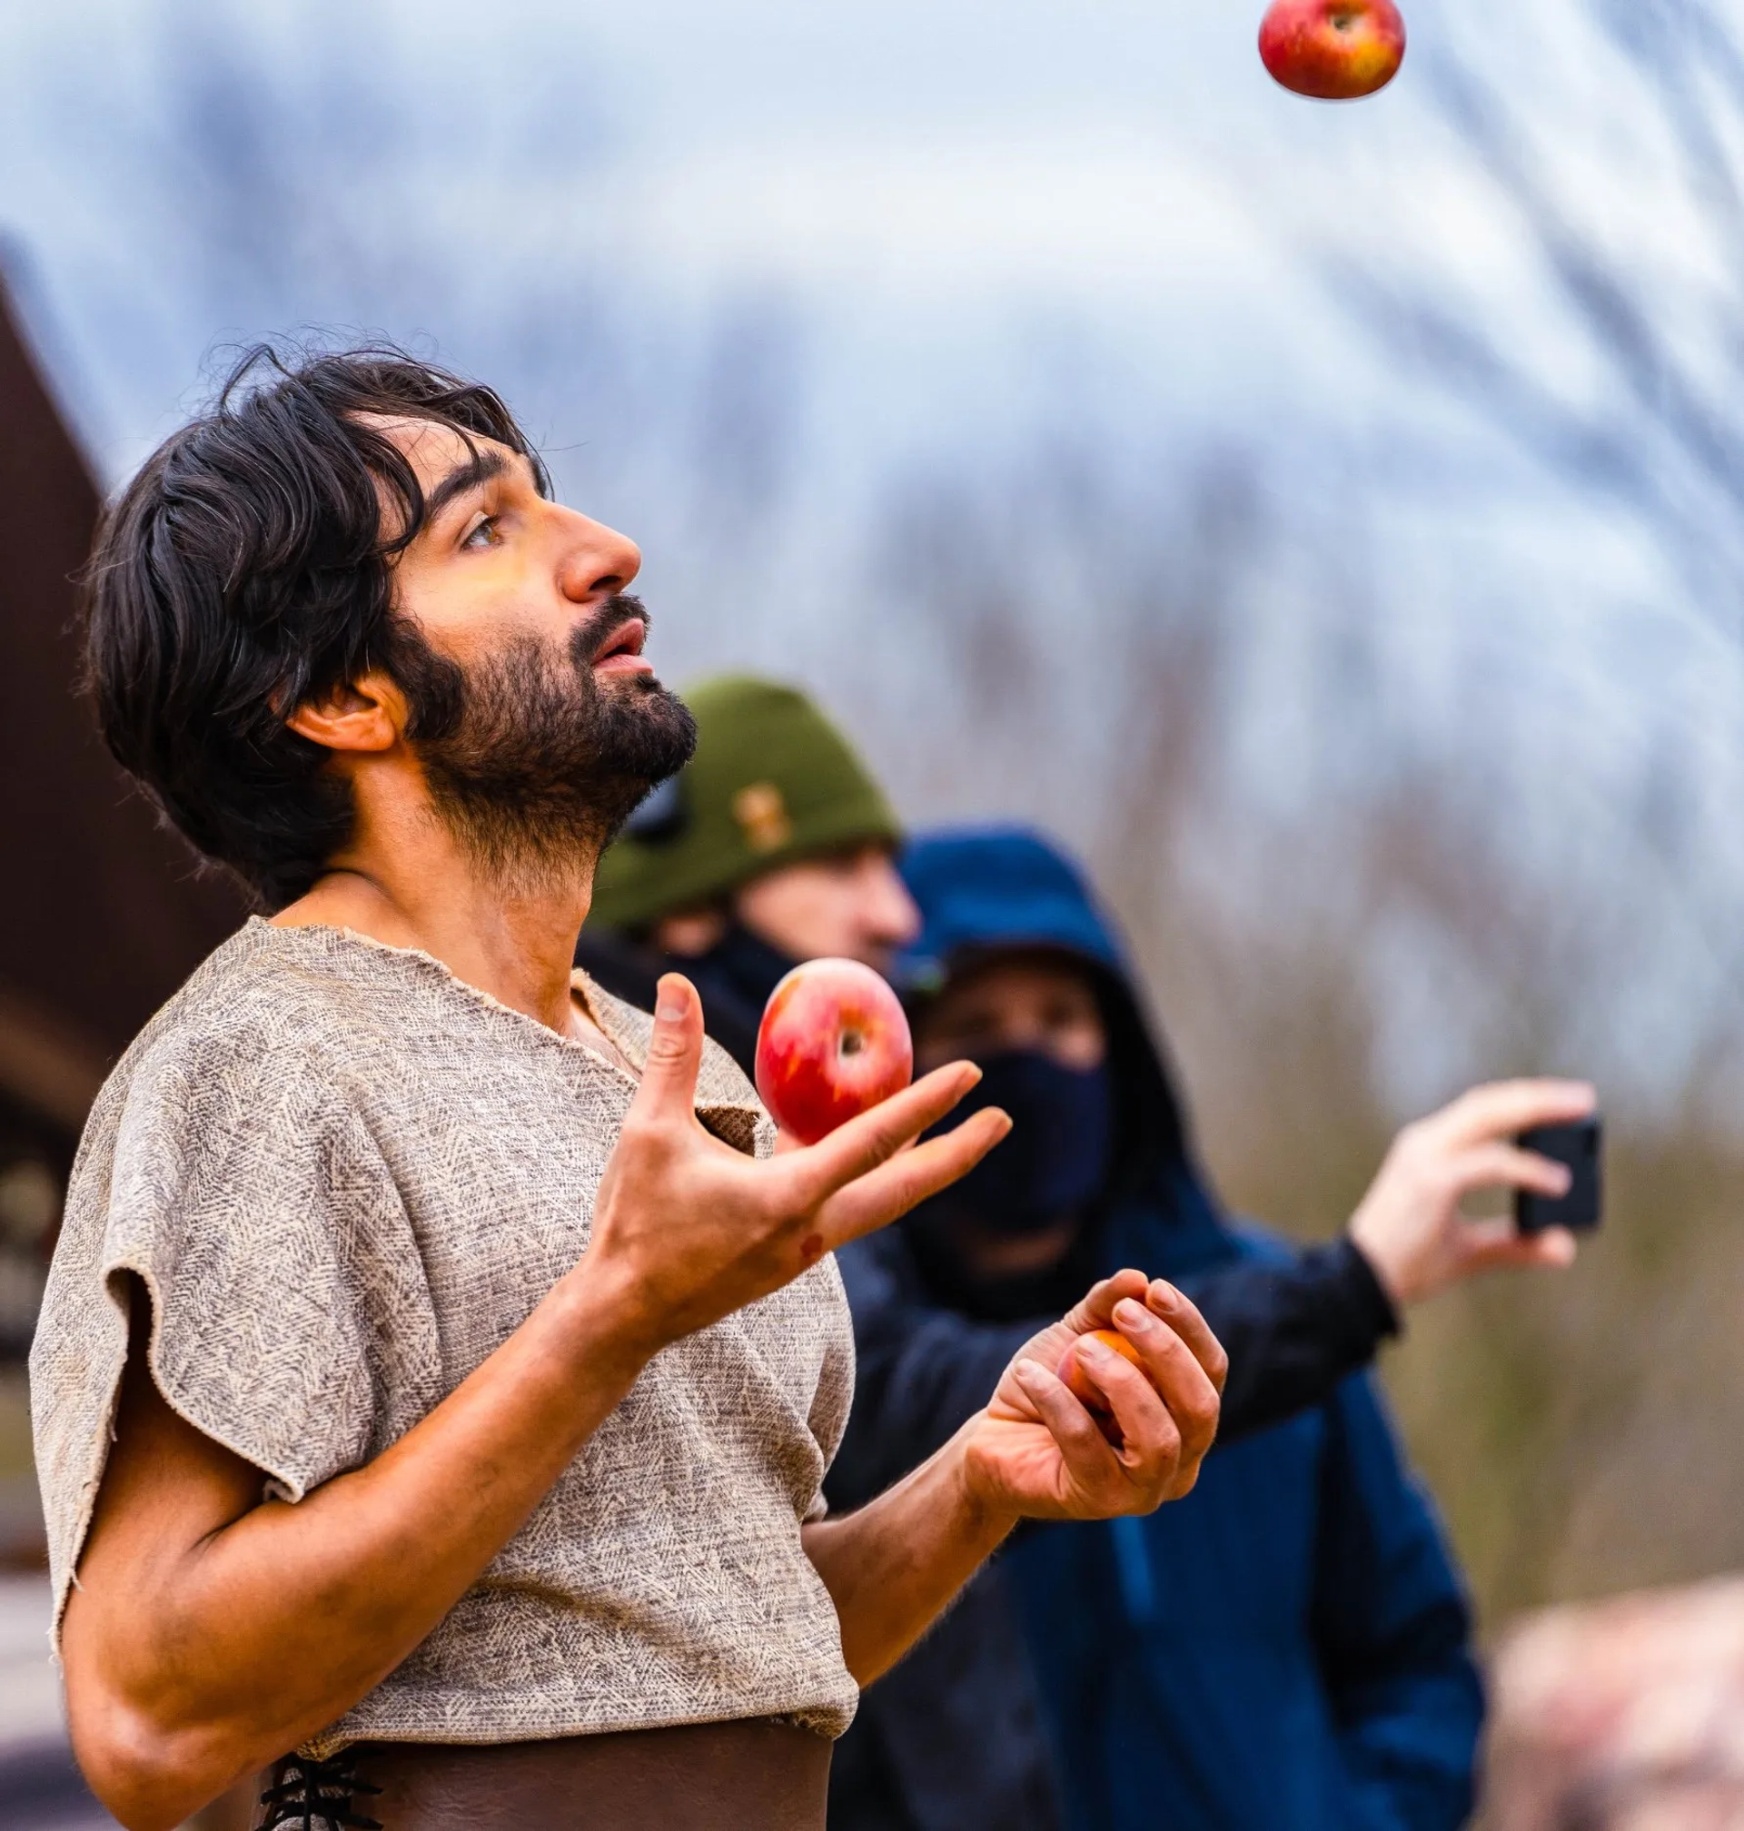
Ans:
{"label": "upturned face of the dark-haired juggling man, including his beard", "polygon": [[636,544],[539,494],[531,465],[451,427],[385,421],[429,504],[394,566],[394,674],[438,813],[502,870],[605,844],[681,767],[689,712],[643,657]]}

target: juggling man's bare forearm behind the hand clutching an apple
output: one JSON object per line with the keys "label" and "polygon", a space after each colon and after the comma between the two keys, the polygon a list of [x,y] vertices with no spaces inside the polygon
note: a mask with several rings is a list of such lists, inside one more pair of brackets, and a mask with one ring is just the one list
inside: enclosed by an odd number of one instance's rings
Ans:
{"label": "juggling man's bare forearm behind the hand clutching an apple", "polygon": [[964,1446],[973,1419],[870,1505],[804,1527],[841,1619],[843,1657],[859,1685],[888,1672],[998,1549],[1017,1514],[969,1490]]}

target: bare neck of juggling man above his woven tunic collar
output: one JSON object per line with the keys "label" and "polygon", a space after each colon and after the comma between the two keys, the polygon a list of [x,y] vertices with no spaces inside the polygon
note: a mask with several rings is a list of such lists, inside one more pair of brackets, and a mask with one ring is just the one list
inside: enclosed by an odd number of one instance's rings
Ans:
{"label": "bare neck of juggling man above his woven tunic collar", "polygon": [[388,947],[416,947],[511,1011],[559,1035],[594,1040],[597,1025],[570,989],[594,864],[594,850],[579,848],[573,870],[504,881],[427,809],[392,822],[359,809],[354,842],[273,921],[352,928]]}

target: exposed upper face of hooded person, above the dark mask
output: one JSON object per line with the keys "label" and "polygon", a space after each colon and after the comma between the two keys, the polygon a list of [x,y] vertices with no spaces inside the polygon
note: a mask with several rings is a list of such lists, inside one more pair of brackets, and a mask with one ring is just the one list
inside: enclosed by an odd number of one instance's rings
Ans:
{"label": "exposed upper face of hooded person, above the dark mask", "polygon": [[1108,1031],[1081,967],[1053,954],[995,956],[953,980],[914,1031],[918,1073],[1017,1049],[1077,1071],[1103,1064]]}

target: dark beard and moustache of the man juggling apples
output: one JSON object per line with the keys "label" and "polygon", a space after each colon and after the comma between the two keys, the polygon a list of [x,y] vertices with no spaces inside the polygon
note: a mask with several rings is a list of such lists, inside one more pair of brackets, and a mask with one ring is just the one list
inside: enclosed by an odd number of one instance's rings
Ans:
{"label": "dark beard and moustache of the man juggling apples", "polygon": [[689,707],[652,674],[594,674],[601,643],[647,612],[614,597],[551,650],[517,637],[471,668],[399,621],[390,672],[410,701],[407,740],[436,815],[485,875],[562,883],[696,749]]}

